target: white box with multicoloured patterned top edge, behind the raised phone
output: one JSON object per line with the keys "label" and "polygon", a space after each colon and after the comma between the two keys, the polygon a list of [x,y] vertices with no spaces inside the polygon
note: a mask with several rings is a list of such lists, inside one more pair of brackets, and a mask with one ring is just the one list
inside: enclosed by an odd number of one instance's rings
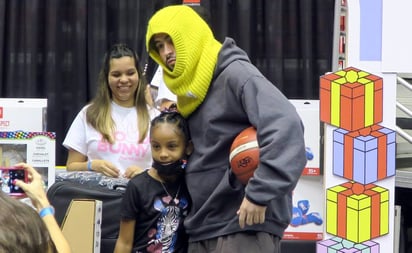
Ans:
{"label": "white box with multicoloured patterned top edge, behind the raised phone", "polygon": [[55,181],[55,147],[54,132],[0,132],[0,166],[28,163],[42,175],[48,188]]}

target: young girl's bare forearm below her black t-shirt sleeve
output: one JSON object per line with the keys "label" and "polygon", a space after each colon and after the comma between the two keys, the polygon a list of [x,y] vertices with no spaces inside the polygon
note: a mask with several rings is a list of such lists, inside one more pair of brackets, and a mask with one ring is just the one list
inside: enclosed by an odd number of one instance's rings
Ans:
{"label": "young girl's bare forearm below her black t-shirt sleeve", "polygon": [[114,253],[130,253],[133,248],[134,227],[136,220],[121,220],[119,238],[117,238]]}

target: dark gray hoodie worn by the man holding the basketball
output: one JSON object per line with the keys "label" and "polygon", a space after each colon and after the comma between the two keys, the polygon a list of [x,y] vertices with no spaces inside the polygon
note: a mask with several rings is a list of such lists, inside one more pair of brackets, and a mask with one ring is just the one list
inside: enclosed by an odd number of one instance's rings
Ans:
{"label": "dark gray hoodie worn by the man holding the basketball", "polygon": [[[186,168],[192,207],[185,220],[190,241],[241,231],[283,236],[292,213],[292,191],[306,164],[303,125],[295,107],[226,38],[203,103],[188,118],[195,147]],[[230,170],[236,135],[257,129],[260,163],[243,186]],[[267,206],[264,224],[241,229],[243,198]]]}

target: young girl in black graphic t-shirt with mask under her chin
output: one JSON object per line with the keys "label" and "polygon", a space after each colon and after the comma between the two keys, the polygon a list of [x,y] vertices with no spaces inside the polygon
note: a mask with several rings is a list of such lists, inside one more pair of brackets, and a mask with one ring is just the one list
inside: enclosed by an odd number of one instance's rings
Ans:
{"label": "young girl in black graphic t-shirt with mask under her chin", "polygon": [[184,183],[193,146],[184,118],[162,112],[151,122],[152,167],[132,178],[122,202],[115,253],[186,252],[183,218],[190,198]]}

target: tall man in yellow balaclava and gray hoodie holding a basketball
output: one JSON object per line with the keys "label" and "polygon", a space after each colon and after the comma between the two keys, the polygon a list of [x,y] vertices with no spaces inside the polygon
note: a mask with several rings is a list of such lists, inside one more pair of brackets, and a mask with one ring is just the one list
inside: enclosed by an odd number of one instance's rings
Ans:
{"label": "tall man in yellow balaclava and gray hoodie holding a basketball", "polygon": [[[233,39],[217,41],[188,6],[156,12],[146,46],[177,96],[194,145],[185,173],[192,200],[184,222],[188,251],[280,252],[292,191],[306,164],[295,107]],[[250,126],[257,131],[259,164],[243,185],[230,169],[229,152]]]}

